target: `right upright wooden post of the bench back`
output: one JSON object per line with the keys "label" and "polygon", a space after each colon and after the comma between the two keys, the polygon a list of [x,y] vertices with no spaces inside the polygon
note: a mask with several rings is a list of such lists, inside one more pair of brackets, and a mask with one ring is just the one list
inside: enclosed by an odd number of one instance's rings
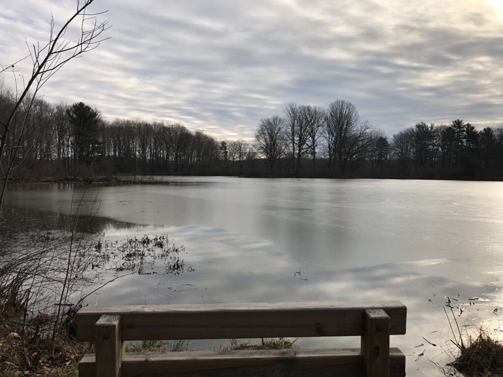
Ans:
{"label": "right upright wooden post of the bench back", "polygon": [[382,309],[367,309],[363,324],[364,375],[389,377],[389,316]]}

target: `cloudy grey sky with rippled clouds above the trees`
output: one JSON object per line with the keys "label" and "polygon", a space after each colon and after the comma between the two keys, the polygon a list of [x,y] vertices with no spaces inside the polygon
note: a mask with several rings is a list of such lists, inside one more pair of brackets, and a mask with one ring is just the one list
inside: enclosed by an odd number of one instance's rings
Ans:
{"label": "cloudy grey sky with rippled clouds above the trees", "polygon": [[[8,65],[76,2],[0,3]],[[503,0],[96,0],[91,10],[109,10],[112,38],[42,92],[108,119],[251,138],[290,102],[345,99],[388,135],[420,121],[503,123]],[[18,68],[26,77],[29,61]]]}

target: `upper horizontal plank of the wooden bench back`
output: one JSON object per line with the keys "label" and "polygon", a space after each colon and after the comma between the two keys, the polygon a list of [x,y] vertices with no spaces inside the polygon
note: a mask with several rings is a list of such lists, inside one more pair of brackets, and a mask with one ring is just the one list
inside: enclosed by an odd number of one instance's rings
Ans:
{"label": "upper horizontal plank of the wooden bench back", "polygon": [[122,340],[358,336],[367,309],[383,309],[390,334],[405,334],[407,310],[399,301],[90,306],[77,313],[77,340],[94,341],[104,314],[121,316]]}

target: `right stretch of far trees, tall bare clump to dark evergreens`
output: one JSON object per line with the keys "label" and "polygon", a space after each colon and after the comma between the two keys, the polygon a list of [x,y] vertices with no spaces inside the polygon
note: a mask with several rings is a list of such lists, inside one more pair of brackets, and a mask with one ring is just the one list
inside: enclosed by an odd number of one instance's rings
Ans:
{"label": "right stretch of far trees, tall bare clump to dark evergreens", "polygon": [[501,126],[478,131],[460,119],[440,125],[419,122],[389,138],[361,121],[356,107],[345,100],[332,102],[327,109],[289,104],[283,117],[262,119],[255,137],[256,148],[271,171],[321,176],[503,177]]}

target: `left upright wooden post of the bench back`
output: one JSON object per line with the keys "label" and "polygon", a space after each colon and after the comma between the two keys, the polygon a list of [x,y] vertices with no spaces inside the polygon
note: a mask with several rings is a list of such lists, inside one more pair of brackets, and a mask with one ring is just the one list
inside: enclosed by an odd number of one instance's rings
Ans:
{"label": "left upright wooden post of the bench back", "polygon": [[119,377],[123,354],[121,317],[101,316],[95,331],[96,377]]}

